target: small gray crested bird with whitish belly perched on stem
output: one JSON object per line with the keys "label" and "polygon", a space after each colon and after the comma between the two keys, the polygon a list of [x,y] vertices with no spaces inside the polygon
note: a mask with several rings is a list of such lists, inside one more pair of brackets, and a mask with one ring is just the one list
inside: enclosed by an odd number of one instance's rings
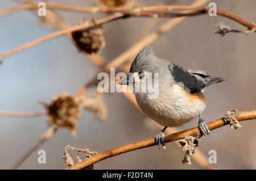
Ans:
{"label": "small gray crested bird with whitish belly perched on stem", "polygon": [[[158,79],[154,79],[157,74]],[[133,89],[139,108],[150,119],[164,128],[156,134],[155,142],[160,149],[164,145],[164,131],[167,127],[178,127],[198,118],[198,127],[204,136],[210,136],[210,131],[201,117],[206,107],[205,87],[225,81],[221,77],[212,77],[206,71],[185,70],[168,60],[156,57],[152,47],[144,47],[131,64],[129,77],[122,79],[118,85],[129,85],[135,88],[147,82],[151,75],[151,84],[158,83],[158,96],[150,98],[149,91]],[[137,80],[137,82],[135,81]],[[156,82],[158,81],[158,82]],[[138,83],[138,84],[136,84]]]}

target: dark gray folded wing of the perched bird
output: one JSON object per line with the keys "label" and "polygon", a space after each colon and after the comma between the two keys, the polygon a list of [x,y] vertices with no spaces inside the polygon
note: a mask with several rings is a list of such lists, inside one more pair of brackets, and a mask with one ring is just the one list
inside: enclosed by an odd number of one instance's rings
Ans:
{"label": "dark gray folded wing of the perched bird", "polygon": [[170,64],[168,68],[171,71],[174,81],[182,83],[184,85],[184,89],[187,90],[189,94],[197,94],[204,89],[204,78],[200,75],[192,74],[181,68],[181,66],[175,64]]}

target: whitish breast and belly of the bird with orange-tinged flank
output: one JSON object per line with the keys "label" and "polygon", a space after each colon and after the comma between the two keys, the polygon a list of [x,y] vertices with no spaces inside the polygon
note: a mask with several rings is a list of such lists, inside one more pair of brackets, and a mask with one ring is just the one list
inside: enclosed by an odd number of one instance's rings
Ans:
{"label": "whitish breast and belly of the bird with orange-tinged flank", "polygon": [[179,85],[159,87],[159,96],[149,99],[145,93],[135,93],[139,107],[160,125],[177,127],[199,116],[205,109],[203,92],[191,95]]}

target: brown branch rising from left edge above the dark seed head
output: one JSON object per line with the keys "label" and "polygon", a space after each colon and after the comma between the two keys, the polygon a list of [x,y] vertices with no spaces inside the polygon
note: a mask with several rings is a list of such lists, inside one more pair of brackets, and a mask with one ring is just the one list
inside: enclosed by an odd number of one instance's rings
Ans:
{"label": "brown branch rising from left edge above the dark seed head", "polygon": [[[169,8],[171,6],[168,6]],[[172,9],[175,9],[176,6],[172,6]],[[146,8],[146,7],[145,7]],[[176,7],[177,9],[180,9],[180,7]],[[71,28],[67,28],[65,30],[61,30],[61,31],[57,31],[55,33],[52,33],[50,35],[41,37],[40,39],[34,40],[30,43],[27,43],[25,45],[22,45],[21,47],[18,47],[14,50],[10,50],[9,52],[3,53],[0,56],[0,62],[3,61],[3,58],[9,57],[15,53],[18,53],[24,49],[28,49],[31,48],[35,45],[38,45],[44,41],[53,39],[55,37],[61,36],[61,35],[65,35],[67,33],[71,33],[73,31],[77,31],[77,30],[82,30],[85,28],[91,28],[94,27],[96,25],[100,25],[100,24],[104,24],[104,23],[108,23],[111,22],[113,20],[117,20],[120,18],[127,18],[127,17],[131,17],[131,16],[135,16],[135,17],[153,17],[153,18],[177,18],[180,16],[195,16],[195,15],[201,15],[201,14],[206,14],[208,12],[208,7],[197,7],[195,8],[195,6],[191,6],[191,7],[186,7],[185,9],[191,9],[191,11],[189,12],[180,12],[180,13],[172,13],[172,12],[144,12],[141,9],[143,9],[143,7],[140,7],[139,9],[133,9],[133,10],[124,10],[123,12],[118,12],[117,14],[114,14],[112,16],[109,16],[107,18],[103,18],[100,20],[97,20],[96,22],[90,23],[90,24],[81,24],[79,26],[75,26],[75,27],[71,27]],[[152,7],[151,7],[152,9]],[[222,10],[217,10],[217,14],[224,16],[226,18],[229,19],[233,19],[234,21],[242,24],[243,26],[249,28],[249,30],[253,30],[253,32],[256,31],[256,25],[254,23],[251,23],[245,19],[240,18],[237,15],[231,14],[230,12],[226,12],[226,11],[222,11]]]}

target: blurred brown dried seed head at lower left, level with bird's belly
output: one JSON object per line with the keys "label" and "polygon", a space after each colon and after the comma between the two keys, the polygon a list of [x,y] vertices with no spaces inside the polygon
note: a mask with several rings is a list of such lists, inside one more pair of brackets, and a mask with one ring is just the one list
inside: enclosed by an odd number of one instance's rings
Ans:
{"label": "blurred brown dried seed head at lower left, level with bird's belly", "polygon": [[76,136],[77,124],[82,110],[80,98],[67,93],[55,96],[50,104],[46,105],[48,123],[54,128],[68,128]]}

